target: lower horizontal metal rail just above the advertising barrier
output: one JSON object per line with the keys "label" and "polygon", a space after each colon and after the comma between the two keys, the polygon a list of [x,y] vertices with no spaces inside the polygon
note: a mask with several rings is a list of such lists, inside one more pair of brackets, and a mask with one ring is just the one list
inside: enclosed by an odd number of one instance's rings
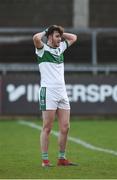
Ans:
{"label": "lower horizontal metal rail just above the advertising barrier", "polygon": [[[39,68],[36,63],[0,63],[0,72],[6,74],[7,72],[38,72]],[[79,64],[65,64],[65,72],[74,73],[105,73],[106,75],[110,73],[117,73],[117,65],[96,65],[91,66],[79,65]]]}

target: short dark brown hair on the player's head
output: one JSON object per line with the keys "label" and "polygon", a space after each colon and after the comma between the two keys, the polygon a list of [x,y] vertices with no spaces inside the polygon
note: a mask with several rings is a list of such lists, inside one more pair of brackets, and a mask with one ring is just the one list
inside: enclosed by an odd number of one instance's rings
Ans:
{"label": "short dark brown hair on the player's head", "polygon": [[60,34],[60,36],[62,36],[64,32],[64,28],[62,26],[52,25],[48,28],[48,31],[46,32],[46,36],[48,37],[49,35],[53,34],[54,31],[57,31]]}

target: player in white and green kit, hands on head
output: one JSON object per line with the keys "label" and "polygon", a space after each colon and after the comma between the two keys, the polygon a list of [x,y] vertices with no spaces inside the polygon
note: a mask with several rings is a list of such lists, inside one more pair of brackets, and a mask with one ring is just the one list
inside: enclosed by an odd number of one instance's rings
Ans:
{"label": "player in white and green kit, hands on head", "polygon": [[[42,40],[44,36],[47,37],[47,44]],[[33,36],[41,74],[39,101],[43,117],[43,129],[40,136],[43,167],[51,166],[48,159],[48,144],[55,115],[57,115],[59,124],[57,165],[75,165],[65,157],[70,127],[70,104],[64,81],[63,52],[76,40],[75,34],[65,33],[63,27],[57,25],[52,25],[45,31]]]}

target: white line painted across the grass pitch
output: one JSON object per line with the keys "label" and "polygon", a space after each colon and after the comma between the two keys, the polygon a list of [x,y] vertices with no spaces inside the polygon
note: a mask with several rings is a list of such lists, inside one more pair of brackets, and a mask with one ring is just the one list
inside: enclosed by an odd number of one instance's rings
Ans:
{"label": "white line painted across the grass pitch", "polygon": [[[31,128],[38,129],[40,131],[42,130],[42,126],[39,126],[39,125],[34,124],[32,122],[27,122],[27,121],[19,120],[18,123],[22,124],[22,125],[29,126]],[[59,135],[59,133],[57,131],[53,131],[52,130],[51,133],[54,136],[57,136],[57,137]],[[74,137],[68,136],[68,140],[71,141],[71,142],[74,142],[76,144],[80,144],[80,145],[82,145],[83,147],[85,147],[87,149],[91,149],[91,150],[94,150],[94,151],[105,152],[105,153],[117,156],[117,151],[113,151],[111,149],[104,149],[104,148],[96,147],[96,146],[93,146],[93,145],[91,145],[91,144],[89,144],[89,143],[87,143],[85,141],[82,141],[81,139],[78,139],[78,138],[74,138]]]}

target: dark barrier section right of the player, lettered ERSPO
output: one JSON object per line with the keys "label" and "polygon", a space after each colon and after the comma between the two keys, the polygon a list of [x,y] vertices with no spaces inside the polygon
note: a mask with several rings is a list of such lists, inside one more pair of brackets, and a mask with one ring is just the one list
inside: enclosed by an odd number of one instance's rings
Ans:
{"label": "dark barrier section right of the player, lettered ERSPO", "polygon": [[117,114],[116,76],[67,76],[72,114]]}

